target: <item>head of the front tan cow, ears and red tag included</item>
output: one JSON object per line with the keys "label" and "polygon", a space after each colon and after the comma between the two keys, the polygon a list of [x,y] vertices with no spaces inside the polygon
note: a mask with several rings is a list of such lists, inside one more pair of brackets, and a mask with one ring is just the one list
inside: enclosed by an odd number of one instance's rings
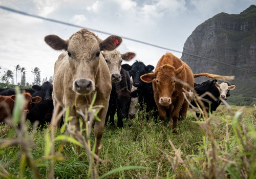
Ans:
{"label": "head of the front tan cow, ears and red tag included", "polygon": [[104,60],[101,51],[116,49],[122,42],[122,38],[111,35],[101,40],[93,32],[81,29],[68,40],[63,40],[56,35],[48,35],[45,41],[55,50],[66,51],[63,60],[68,60],[70,69],[72,69],[72,90],[85,95],[95,90],[98,64],[100,60]]}

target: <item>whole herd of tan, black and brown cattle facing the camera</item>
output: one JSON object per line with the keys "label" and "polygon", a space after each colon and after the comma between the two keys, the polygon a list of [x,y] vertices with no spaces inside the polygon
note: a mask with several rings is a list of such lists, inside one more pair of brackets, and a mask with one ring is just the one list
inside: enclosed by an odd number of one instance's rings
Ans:
{"label": "whole herd of tan, black and brown cattle facing the camera", "polygon": [[[115,50],[122,42],[119,36],[111,35],[102,40],[93,32],[81,29],[68,40],[48,35],[45,41],[54,50],[65,52],[55,62],[53,84],[45,82],[42,86],[33,85],[32,88],[23,89],[29,100],[24,107],[27,119],[31,122],[37,120],[45,125],[51,121],[57,104],[61,108],[69,106],[70,116],[73,117],[69,125],[74,125],[79,130],[77,110],[89,107],[94,92],[97,92],[95,105],[104,107],[98,113],[101,121],[95,120],[94,124],[96,153],[109,117],[110,124],[114,125],[114,115],[117,113],[117,126],[122,127],[124,118],[135,117],[136,103],[141,107],[145,104],[146,114],[153,112],[155,120],[158,117],[161,120],[172,119],[175,131],[178,119],[186,118],[189,107],[183,89],[189,91],[194,87],[199,95],[211,93],[217,100],[206,95],[204,105],[212,113],[220,105],[219,98],[225,99],[229,96],[229,90],[236,87],[227,82],[219,84],[216,80],[230,79],[229,76],[207,73],[194,75],[186,63],[170,53],[160,58],[156,69],[153,65],[145,65],[138,60],[132,65],[121,64],[123,60],[132,60],[136,54],[121,54]],[[214,80],[194,83],[194,78],[199,76]],[[13,109],[15,91],[2,88],[0,95],[0,122],[3,122],[7,117],[7,110]],[[191,96],[187,98],[192,99]],[[191,104],[196,106],[193,101]],[[57,126],[58,123],[52,125]]]}

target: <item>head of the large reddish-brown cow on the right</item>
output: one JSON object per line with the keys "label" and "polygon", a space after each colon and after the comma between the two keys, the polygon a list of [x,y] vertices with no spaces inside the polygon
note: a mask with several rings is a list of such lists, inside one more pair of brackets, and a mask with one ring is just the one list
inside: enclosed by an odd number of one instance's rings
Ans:
{"label": "head of the large reddish-brown cow on the right", "polygon": [[[181,65],[177,70],[174,66],[165,64],[160,66],[154,73],[142,75],[142,81],[150,83],[156,89],[159,97],[159,104],[169,105],[172,104],[172,95],[175,90],[176,77],[182,72],[184,65]],[[154,89],[154,92],[155,92]]]}

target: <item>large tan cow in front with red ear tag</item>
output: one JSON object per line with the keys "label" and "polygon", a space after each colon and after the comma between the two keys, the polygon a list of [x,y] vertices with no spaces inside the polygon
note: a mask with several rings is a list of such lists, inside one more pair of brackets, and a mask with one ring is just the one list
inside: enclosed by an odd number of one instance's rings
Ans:
{"label": "large tan cow in front with red ear tag", "polygon": [[[94,120],[95,153],[99,154],[112,88],[110,71],[101,51],[116,49],[122,38],[111,35],[101,40],[93,32],[81,29],[67,40],[57,35],[48,35],[45,41],[54,50],[65,51],[54,65],[53,104],[54,107],[57,104],[62,108],[70,107],[69,116],[72,120],[69,126],[80,130],[77,110],[88,108],[95,92],[97,96],[94,104],[104,106],[98,113],[101,121]],[[52,121],[52,125],[58,124]],[[80,148],[77,149],[80,153]]]}

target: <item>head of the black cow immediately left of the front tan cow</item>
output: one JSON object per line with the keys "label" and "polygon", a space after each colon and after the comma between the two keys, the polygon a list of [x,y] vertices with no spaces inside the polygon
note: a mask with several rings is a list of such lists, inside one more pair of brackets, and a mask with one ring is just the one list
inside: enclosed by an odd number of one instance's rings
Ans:
{"label": "head of the black cow immediately left of the front tan cow", "polygon": [[33,85],[32,89],[34,89],[37,92],[37,96],[40,96],[45,101],[51,101],[52,100],[52,84],[49,81],[44,82],[41,86],[39,85]]}

